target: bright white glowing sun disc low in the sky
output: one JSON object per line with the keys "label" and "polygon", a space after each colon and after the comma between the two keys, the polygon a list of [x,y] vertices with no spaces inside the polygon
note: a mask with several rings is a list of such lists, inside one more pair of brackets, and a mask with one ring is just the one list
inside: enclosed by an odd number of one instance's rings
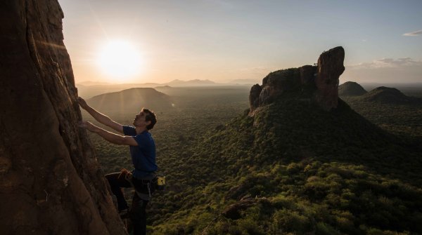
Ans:
{"label": "bright white glowing sun disc low in the sky", "polygon": [[109,41],[101,48],[98,65],[105,74],[122,80],[139,74],[142,60],[139,51],[132,43]]}

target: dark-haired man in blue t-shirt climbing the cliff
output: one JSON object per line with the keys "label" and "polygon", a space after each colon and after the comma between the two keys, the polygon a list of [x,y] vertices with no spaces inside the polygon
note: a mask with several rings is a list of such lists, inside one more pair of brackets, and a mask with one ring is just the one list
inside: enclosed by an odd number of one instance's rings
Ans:
{"label": "dark-haired man in blue t-shirt climbing the cliff", "polygon": [[[149,132],[157,122],[154,112],[143,108],[139,114],[136,114],[134,126],[124,126],[90,107],[83,98],[77,98],[77,101],[82,109],[85,109],[96,121],[123,135],[104,130],[89,121],[82,121],[79,123],[80,127],[100,135],[113,144],[129,145],[134,165],[132,173],[128,174],[127,171],[122,170],[122,172],[106,175],[106,179],[110,184],[111,191],[117,198],[120,216],[131,218],[134,234],[146,234],[146,205],[153,191],[151,180],[155,177],[155,170],[158,168],[155,163],[155,142]],[[129,210],[122,187],[132,186],[136,189],[136,192],[133,196],[132,208]]]}

